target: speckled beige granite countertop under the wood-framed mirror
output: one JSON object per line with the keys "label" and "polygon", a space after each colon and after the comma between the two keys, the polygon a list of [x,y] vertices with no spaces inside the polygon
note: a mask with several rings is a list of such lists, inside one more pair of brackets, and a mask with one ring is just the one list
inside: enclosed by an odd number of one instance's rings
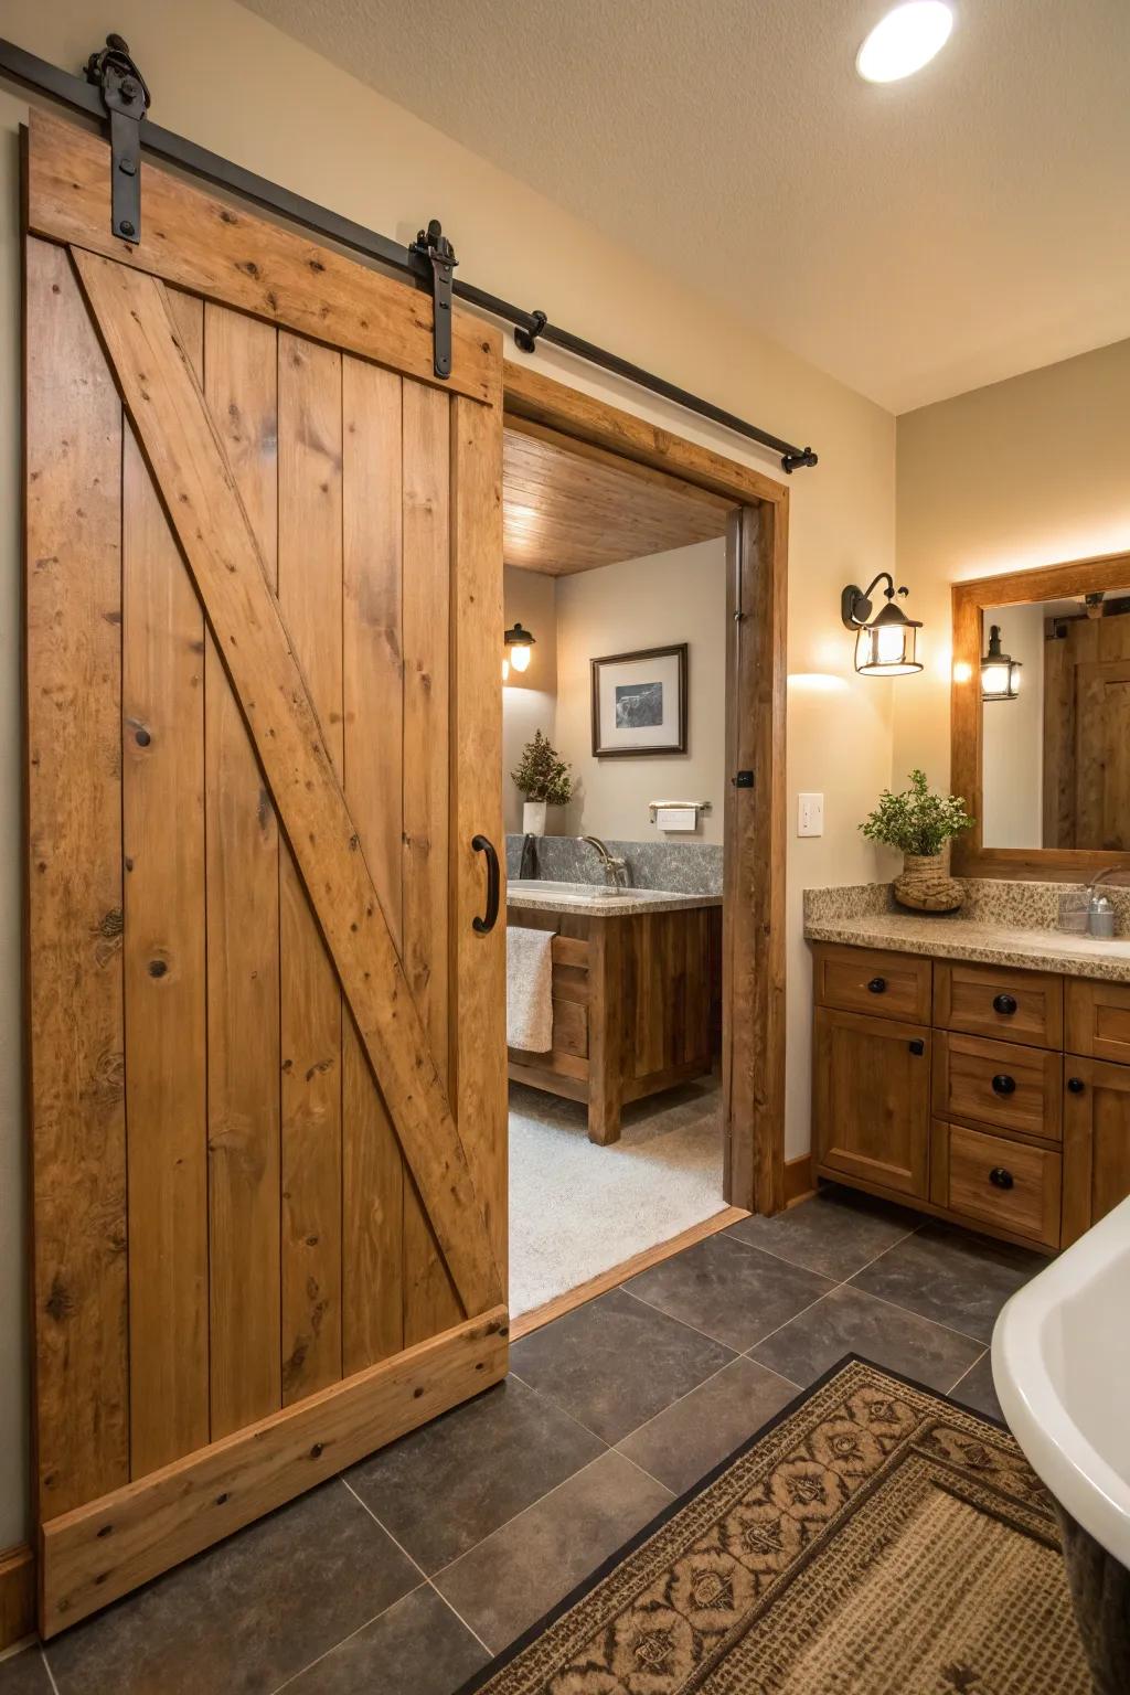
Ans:
{"label": "speckled beige granite countertop under the wood-framed mirror", "polygon": [[976,959],[1022,971],[1062,971],[1064,976],[1130,983],[1130,937],[1105,941],[1067,931],[1022,929],[983,919],[915,912],[871,912],[862,917],[808,914],[805,936],[813,942],[886,948],[893,953],[930,954],[935,959]]}

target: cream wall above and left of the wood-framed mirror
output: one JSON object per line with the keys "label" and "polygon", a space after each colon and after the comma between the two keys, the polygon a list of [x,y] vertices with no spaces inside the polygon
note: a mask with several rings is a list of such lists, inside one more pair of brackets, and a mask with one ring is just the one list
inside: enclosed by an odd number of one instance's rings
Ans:
{"label": "cream wall above and left of the wood-framed mirror", "polygon": [[1130,549],[1130,341],[898,420],[898,573],[930,642],[895,773],[949,776],[950,583]]}

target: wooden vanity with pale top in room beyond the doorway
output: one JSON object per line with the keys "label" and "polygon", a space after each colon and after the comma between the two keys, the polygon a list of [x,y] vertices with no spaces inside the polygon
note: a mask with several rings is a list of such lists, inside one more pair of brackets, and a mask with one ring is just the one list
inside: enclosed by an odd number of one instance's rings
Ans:
{"label": "wooden vanity with pale top in room beyond the doorway", "polygon": [[510,1076],[584,1102],[593,1142],[618,1139],[629,1102],[710,1071],[722,897],[512,881],[507,917],[554,931],[552,1048],[512,1048]]}

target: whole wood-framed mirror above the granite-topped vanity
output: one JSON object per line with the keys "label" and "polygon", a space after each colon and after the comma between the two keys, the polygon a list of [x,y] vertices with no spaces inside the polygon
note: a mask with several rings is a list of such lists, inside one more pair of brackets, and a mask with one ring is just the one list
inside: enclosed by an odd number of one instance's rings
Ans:
{"label": "whole wood-framed mirror above the granite-topped vanity", "polygon": [[[956,583],[952,598],[950,780],[976,819],[954,873],[1130,871],[1130,554]],[[994,627],[1013,686],[986,698]]]}

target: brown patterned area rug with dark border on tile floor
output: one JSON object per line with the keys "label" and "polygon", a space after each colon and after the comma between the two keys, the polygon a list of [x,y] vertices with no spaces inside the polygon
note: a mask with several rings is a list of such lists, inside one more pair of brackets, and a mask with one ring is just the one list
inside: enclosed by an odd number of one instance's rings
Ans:
{"label": "brown patterned area rug with dark border on tile floor", "polygon": [[862,1359],[647,1527],[464,1695],[1089,1695],[1011,1436]]}

